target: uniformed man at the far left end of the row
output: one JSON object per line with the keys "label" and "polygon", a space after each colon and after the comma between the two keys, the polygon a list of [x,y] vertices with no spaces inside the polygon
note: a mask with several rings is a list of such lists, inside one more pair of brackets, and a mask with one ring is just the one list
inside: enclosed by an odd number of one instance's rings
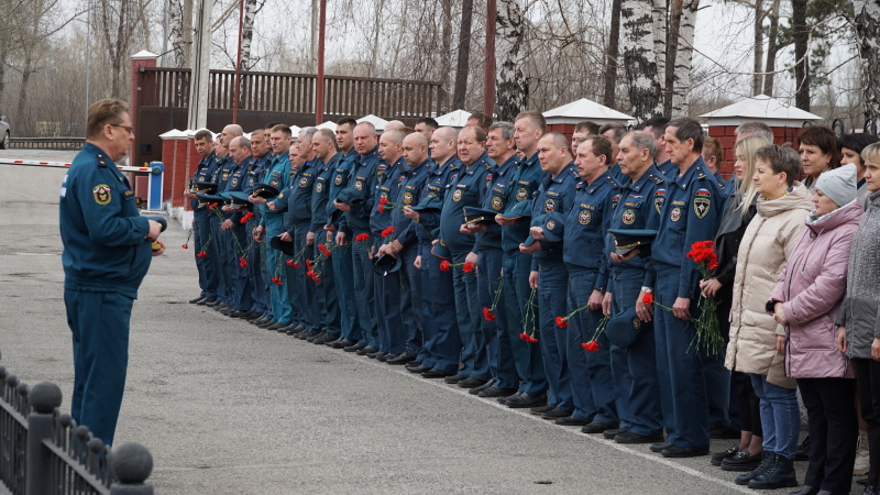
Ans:
{"label": "uniformed man at the far left end of the row", "polygon": [[[200,130],[196,132],[193,140],[196,146],[196,153],[201,156],[198,165],[196,165],[196,174],[193,179],[200,183],[210,182],[215,168],[217,168],[217,155],[213,152],[213,136],[211,131]],[[189,189],[184,191],[184,196],[189,199],[189,207],[193,208],[193,253],[196,255],[196,270],[199,273],[199,287],[201,293],[199,297],[190,300],[190,304],[200,306],[213,305],[217,300],[217,263],[212,257],[199,257],[199,253],[205,248],[208,239],[211,237],[210,230],[210,211],[207,206],[200,206],[199,200],[195,193]]]}

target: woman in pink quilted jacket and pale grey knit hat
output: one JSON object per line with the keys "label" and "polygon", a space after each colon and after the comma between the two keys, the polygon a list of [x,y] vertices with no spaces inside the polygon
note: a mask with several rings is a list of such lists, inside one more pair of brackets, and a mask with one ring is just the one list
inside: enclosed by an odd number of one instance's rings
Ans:
{"label": "woman in pink quilted jacket and pale grey knit hat", "polygon": [[798,380],[810,432],[810,464],[799,495],[849,493],[858,424],[856,381],[837,345],[835,320],[846,293],[849,248],[861,219],[856,166],[823,173],[816,180],[807,229],[785,263],[767,304],[788,328],[777,346],[785,374]]}

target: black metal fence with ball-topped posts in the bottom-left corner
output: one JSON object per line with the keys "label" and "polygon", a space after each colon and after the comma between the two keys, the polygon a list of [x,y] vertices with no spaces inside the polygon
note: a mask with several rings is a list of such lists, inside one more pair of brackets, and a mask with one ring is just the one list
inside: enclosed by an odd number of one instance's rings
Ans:
{"label": "black metal fence with ball-topped posts in the bottom-left corner", "polygon": [[57,385],[20,383],[0,366],[0,494],[152,495],[145,447],[113,448],[61,414]]}

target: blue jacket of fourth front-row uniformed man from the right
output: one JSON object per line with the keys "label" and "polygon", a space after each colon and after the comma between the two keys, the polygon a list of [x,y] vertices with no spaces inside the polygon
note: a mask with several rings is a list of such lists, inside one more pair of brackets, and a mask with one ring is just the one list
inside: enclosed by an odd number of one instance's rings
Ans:
{"label": "blue jacket of fourth front-row uniformed man from the right", "polygon": [[[538,199],[531,204],[531,226],[547,229],[544,221],[550,213],[569,211],[574,204],[575,187],[581,177],[574,163],[569,163],[556,177],[544,174],[541,187],[538,189]],[[540,241],[541,251],[535,253],[532,270],[538,270],[538,261],[562,261],[562,246],[558,242]]]}

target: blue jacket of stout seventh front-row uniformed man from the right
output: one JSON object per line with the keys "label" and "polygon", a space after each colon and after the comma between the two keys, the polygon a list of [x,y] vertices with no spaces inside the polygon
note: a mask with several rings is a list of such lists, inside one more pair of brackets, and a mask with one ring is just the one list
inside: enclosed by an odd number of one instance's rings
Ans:
{"label": "blue jacket of stout seventh front-row uniformed man from the right", "polygon": [[453,254],[474,251],[474,238],[461,233],[464,223],[464,207],[481,207],[486,189],[492,184],[494,166],[492,158],[484,152],[469,167],[459,169],[457,177],[443,198],[443,210],[440,213],[440,239]]}

